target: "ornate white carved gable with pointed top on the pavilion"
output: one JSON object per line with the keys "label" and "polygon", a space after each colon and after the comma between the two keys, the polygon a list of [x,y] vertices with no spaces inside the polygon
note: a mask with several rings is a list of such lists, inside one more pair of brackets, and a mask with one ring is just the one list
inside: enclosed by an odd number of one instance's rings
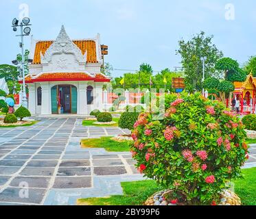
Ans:
{"label": "ornate white carved gable with pointed top on the pavilion", "polygon": [[56,41],[51,44],[45,55],[41,55],[43,71],[79,71],[85,69],[86,53],[73,43],[62,25]]}

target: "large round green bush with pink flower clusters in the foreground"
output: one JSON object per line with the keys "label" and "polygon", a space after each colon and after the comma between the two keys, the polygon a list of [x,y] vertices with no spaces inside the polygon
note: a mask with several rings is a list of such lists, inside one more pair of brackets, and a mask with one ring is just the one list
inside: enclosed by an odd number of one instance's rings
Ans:
{"label": "large round green bush with pink flower clusters in the foreground", "polygon": [[178,202],[215,205],[248,159],[244,125],[222,103],[199,93],[169,94],[166,105],[163,120],[143,113],[135,123],[131,152],[137,167],[174,190]]}

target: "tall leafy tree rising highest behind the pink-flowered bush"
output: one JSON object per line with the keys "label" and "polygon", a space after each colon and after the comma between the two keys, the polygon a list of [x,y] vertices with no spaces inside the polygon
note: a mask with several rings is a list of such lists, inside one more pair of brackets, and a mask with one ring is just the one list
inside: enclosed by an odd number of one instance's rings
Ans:
{"label": "tall leafy tree rising highest behind the pink-flowered bush", "polygon": [[179,49],[176,54],[181,55],[185,81],[190,90],[202,90],[202,61],[201,57],[207,57],[205,60],[205,79],[208,77],[220,78],[220,73],[215,69],[216,62],[223,56],[213,44],[213,36],[205,36],[201,31],[187,42],[178,41]]}

